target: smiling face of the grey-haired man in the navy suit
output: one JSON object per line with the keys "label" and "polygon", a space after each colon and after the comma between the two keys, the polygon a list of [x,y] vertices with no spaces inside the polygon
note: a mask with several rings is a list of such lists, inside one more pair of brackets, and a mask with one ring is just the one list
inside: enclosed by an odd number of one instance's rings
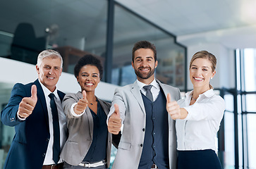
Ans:
{"label": "smiling face of the grey-haired man in the navy suit", "polygon": [[36,65],[38,79],[47,89],[54,92],[61,76],[61,58],[43,58],[40,65]]}

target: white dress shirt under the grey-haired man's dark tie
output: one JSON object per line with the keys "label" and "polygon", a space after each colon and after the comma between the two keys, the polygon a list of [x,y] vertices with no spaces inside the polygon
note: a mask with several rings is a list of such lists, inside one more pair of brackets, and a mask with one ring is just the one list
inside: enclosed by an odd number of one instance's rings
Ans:
{"label": "white dress shirt under the grey-haired man's dark tie", "polygon": [[[51,165],[54,164],[54,161],[52,160],[52,147],[54,144],[54,127],[52,123],[52,115],[51,115],[51,106],[50,106],[50,98],[49,94],[53,93],[54,94],[54,100],[58,109],[58,115],[59,115],[59,130],[60,130],[60,146],[61,149],[63,148],[66,138],[67,138],[67,124],[66,124],[66,115],[63,111],[62,104],[61,104],[61,99],[59,99],[59,95],[57,93],[57,88],[54,90],[54,92],[49,91],[47,87],[45,87],[40,81],[39,83],[42,86],[42,90],[44,92],[44,97],[45,101],[47,102],[47,111],[48,111],[48,117],[49,117],[49,130],[50,130],[50,139],[49,139],[49,144],[47,147],[47,154],[45,155],[44,158],[44,164],[43,165]],[[62,159],[60,158],[59,163],[63,162]]]}

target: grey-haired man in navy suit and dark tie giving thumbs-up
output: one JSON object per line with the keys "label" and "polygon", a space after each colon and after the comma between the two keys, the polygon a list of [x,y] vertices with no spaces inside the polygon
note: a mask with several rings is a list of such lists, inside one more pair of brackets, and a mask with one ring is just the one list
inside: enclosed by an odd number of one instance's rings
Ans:
{"label": "grey-haired man in navy suit and dark tie giving thumbs-up", "polygon": [[4,168],[62,168],[59,154],[67,129],[61,101],[65,94],[56,89],[62,63],[58,52],[42,51],[37,58],[38,79],[14,85],[1,113],[2,122],[16,130]]}

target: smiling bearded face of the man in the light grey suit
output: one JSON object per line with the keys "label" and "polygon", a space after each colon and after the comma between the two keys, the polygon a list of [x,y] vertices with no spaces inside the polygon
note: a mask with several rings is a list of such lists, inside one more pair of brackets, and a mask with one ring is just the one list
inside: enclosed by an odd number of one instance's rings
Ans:
{"label": "smiling bearded face of the man in the light grey suit", "polygon": [[154,80],[154,69],[157,68],[157,61],[154,61],[154,52],[151,49],[135,51],[132,65],[140,82],[150,84]]}

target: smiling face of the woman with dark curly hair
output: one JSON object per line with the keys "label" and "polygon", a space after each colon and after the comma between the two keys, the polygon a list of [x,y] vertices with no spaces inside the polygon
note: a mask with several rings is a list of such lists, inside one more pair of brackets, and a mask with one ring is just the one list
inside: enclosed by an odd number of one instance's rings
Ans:
{"label": "smiling face of the woman with dark curly hair", "polygon": [[84,65],[76,78],[82,91],[94,92],[100,81],[99,70],[95,65]]}

